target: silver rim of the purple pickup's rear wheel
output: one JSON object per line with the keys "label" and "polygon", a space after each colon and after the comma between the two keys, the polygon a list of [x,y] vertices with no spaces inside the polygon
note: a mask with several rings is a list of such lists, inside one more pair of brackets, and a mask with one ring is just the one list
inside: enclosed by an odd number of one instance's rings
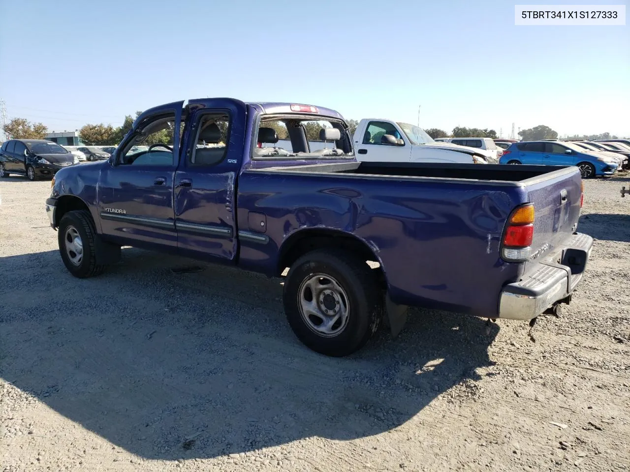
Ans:
{"label": "silver rim of the purple pickup's rear wheel", "polygon": [[341,285],[327,274],[313,274],[304,279],[297,292],[297,302],[304,323],[315,334],[334,337],[348,325],[348,297]]}

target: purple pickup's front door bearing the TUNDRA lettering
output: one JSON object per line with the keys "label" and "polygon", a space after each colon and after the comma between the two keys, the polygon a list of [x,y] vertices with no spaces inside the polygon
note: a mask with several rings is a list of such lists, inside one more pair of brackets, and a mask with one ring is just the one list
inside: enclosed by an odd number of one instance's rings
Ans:
{"label": "purple pickup's front door bearing the TUNDRA lettering", "polygon": [[103,165],[98,211],[106,239],[176,250],[173,179],[179,164],[182,106],[180,101],[142,113]]}

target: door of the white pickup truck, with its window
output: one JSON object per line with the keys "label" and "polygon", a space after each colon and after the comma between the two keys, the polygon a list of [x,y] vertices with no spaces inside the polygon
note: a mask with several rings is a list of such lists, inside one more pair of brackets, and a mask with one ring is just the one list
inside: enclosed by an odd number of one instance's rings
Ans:
{"label": "door of the white pickup truck, with its window", "polygon": [[[382,140],[384,135],[391,135],[403,140],[404,145],[392,145]],[[367,162],[409,162],[411,143],[404,140],[401,132],[387,121],[369,121],[361,142],[355,142],[357,160]]]}

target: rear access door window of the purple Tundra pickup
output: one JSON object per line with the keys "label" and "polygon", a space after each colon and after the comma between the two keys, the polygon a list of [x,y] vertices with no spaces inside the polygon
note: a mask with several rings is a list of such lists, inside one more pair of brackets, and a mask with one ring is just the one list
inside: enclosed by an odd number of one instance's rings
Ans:
{"label": "rear access door window of the purple Tundra pickup", "polygon": [[225,113],[203,115],[197,127],[193,149],[188,153],[190,166],[215,166],[227,153],[230,118]]}

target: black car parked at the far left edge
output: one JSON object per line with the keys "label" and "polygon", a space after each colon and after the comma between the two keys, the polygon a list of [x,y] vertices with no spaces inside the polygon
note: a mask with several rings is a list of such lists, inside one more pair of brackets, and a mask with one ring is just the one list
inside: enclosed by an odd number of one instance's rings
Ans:
{"label": "black car parked at the far left edge", "polygon": [[19,174],[35,180],[52,177],[62,167],[78,164],[79,159],[59,144],[42,139],[12,139],[0,150],[0,177]]}

